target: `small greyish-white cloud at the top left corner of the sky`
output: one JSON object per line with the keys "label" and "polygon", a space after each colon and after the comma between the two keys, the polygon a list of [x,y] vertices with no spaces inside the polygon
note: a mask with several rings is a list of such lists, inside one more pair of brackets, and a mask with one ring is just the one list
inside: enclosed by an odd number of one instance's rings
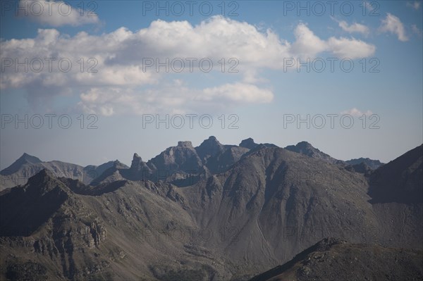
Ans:
{"label": "small greyish-white cloud at the top left corner of the sky", "polygon": [[[87,6],[81,6],[82,3]],[[59,27],[99,23],[99,17],[94,11],[97,7],[95,1],[80,2],[78,7],[71,6],[68,2],[52,0],[20,0],[16,5],[19,17],[29,18],[42,25]]]}

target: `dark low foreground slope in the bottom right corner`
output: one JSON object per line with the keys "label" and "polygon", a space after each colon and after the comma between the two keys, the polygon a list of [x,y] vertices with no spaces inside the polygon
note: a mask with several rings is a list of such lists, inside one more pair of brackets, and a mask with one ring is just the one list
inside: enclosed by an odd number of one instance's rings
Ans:
{"label": "dark low foreground slope in the bottom right corner", "polygon": [[423,252],[326,238],[250,281],[422,280]]}

